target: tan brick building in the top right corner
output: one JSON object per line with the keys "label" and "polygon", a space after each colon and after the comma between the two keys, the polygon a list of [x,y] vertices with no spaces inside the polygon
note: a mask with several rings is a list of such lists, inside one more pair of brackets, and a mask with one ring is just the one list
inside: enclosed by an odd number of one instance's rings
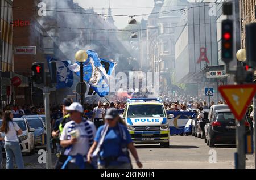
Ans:
{"label": "tan brick building in the top right corner", "polygon": [[256,0],[240,0],[241,16],[241,48],[246,48],[245,26],[249,23],[256,23]]}

